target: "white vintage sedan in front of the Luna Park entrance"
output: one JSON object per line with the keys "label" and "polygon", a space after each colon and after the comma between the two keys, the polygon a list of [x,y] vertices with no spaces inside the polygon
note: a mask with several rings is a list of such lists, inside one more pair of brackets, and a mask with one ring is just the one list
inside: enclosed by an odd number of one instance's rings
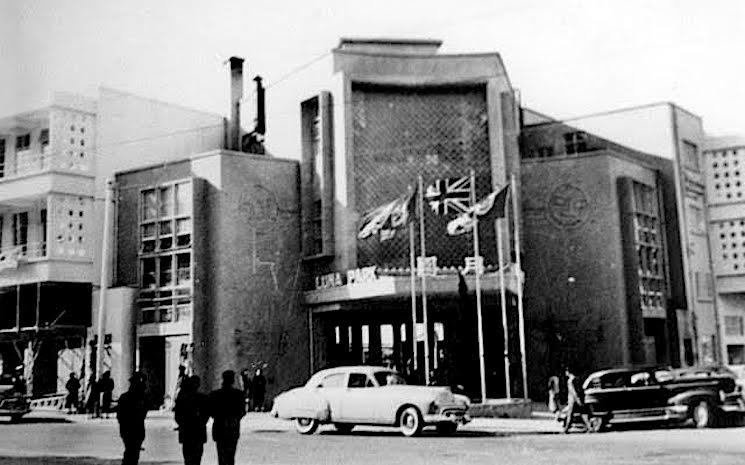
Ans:
{"label": "white vintage sedan in front of the Luna Park entrance", "polygon": [[355,425],[397,426],[405,436],[416,436],[434,425],[452,434],[470,421],[468,398],[448,387],[407,385],[390,368],[346,366],[321,370],[305,386],[275,397],[272,414],[291,419],[302,434],[331,423],[340,432]]}

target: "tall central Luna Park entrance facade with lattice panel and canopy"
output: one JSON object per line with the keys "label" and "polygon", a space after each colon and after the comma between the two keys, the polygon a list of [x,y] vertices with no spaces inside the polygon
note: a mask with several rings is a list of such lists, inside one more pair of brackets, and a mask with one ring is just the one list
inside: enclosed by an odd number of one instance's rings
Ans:
{"label": "tall central Luna Park entrance facade with lattice panel and canopy", "polygon": [[[474,275],[459,280],[465,258],[474,255],[471,236],[448,236],[454,214],[438,215],[426,203],[426,255],[437,259],[436,276],[427,280],[426,329],[418,280],[416,324],[412,318],[407,232],[386,241],[357,238],[362,214],[415,190],[418,176],[427,189],[438,179],[468,179],[473,170],[480,199],[518,173],[517,104],[501,58],[444,55],[439,46],[342,39],[326,84],[303,99],[303,303],[312,323],[312,370],[384,363],[423,381],[426,332],[433,376],[479,397]],[[486,385],[488,396],[498,397],[504,395],[502,325],[488,226],[480,231]],[[514,279],[509,289],[514,310]],[[519,366],[516,359],[517,380]]]}

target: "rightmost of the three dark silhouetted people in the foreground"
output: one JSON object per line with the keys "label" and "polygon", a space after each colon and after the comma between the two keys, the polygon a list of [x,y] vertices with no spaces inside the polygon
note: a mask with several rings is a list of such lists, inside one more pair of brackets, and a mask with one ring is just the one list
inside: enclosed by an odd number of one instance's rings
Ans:
{"label": "rightmost of the three dark silhouetted people in the foreground", "polygon": [[246,414],[243,393],[233,387],[235,372],[226,370],[222,374],[222,387],[210,393],[210,415],[212,439],[217,447],[219,465],[235,464],[235,449],[241,434],[241,418]]}

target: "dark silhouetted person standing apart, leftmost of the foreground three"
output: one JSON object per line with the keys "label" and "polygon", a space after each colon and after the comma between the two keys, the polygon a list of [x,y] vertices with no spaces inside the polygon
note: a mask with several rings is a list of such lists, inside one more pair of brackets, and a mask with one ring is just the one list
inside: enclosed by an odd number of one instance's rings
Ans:
{"label": "dark silhouetted person standing apart, leftmost of the foreground three", "polygon": [[140,450],[145,441],[145,376],[135,372],[129,378],[129,390],[119,396],[116,419],[119,421],[119,436],[124,443],[122,465],[137,465]]}

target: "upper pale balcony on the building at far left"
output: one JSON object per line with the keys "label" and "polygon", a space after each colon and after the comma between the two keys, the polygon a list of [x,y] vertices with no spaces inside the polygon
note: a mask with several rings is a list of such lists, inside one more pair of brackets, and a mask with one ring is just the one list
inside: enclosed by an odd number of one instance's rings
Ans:
{"label": "upper pale balcony on the building at far left", "polygon": [[48,192],[93,195],[95,173],[88,152],[24,150],[14,158],[0,163],[0,203],[13,204]]}

